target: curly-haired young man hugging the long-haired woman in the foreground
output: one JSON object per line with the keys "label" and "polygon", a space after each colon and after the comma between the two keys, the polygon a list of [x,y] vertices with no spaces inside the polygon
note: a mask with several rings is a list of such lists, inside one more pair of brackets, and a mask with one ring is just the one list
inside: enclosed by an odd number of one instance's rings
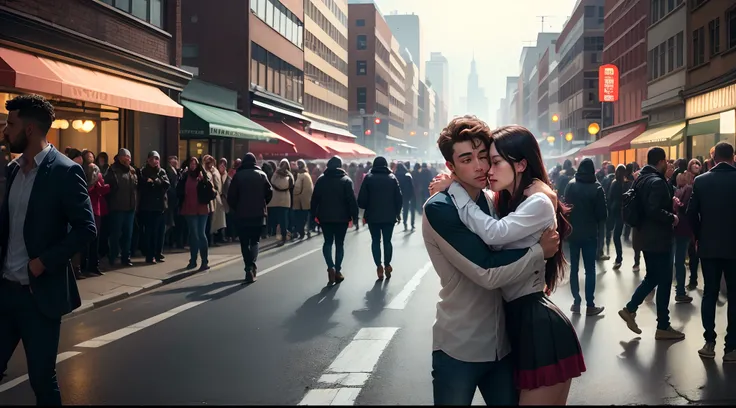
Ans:
{"label": "curly-haired young man hugging the long-haired woman in the foreground", "polygon": [[[483,189],[490,168],[490,129],[474,116],[453,119],[438,145],[459,183],[490,215]],[[452,197],[424,205],[422,234],[442,289],[433,326],[435,405],[470,405],[479,388],[488,405],[515,405],[518,394],[508,357],[501,286],[544,269],[557,252],[556,232],[529,249],[494,252],[460,220]]]}

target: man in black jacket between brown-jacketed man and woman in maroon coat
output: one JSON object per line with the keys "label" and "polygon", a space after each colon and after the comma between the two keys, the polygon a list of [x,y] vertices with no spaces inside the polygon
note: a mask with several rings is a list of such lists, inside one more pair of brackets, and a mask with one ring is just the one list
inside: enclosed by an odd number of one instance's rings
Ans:
{"label": "man in black jacket between brown-jacketed man and woman in maroon coat", "polygon": [[146,263],[164,261],[164,233],[166,232],[167,197],[171,182],[166,170],[161,167],[161,156],[153,150],[148,153],[148,162],[141,169],[141,182],[138,183],[140,218],[143,222],[143,248]]}

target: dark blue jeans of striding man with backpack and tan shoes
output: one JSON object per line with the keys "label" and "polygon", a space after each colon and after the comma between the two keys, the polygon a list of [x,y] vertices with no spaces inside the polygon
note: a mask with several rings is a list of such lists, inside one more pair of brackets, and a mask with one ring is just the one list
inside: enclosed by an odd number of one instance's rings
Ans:
{"label": "dark blue jeans of striding man with backpack and tan shoes", "polygon": [[670,327],[670,296],[672,294],[672,254],[670,252],[644,252],[646,274],[639,287],[626,304],[626,309],[636,313],[644,299],[657,288],[657,329],[665,330]]}

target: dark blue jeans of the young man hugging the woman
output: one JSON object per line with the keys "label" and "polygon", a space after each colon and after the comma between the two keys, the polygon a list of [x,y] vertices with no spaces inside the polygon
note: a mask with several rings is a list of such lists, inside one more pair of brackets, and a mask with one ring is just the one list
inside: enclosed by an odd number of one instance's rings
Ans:
{"label": "dark blue jeans of the young man hugging the woman", "polygon": [[473,402],[479,388],[486,405],[517,405],[511,356],[499,361],[469,363],[441,350],[432,352],[434,405],[465,405]]}

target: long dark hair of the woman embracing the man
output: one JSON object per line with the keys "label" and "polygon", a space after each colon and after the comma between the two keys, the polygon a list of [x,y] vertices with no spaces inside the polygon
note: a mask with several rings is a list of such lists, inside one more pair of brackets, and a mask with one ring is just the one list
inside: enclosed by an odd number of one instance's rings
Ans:
{"label": "long dark hair of the woman embracing the man", "polygon": [[[519,163],[526,160],[526,169],[521,173],[519,187],[513,193],[504,190],[496,194],[496,206],[501,217],[505,217],[524,201],[524,190],[529,187],[535,179],[549,185],[547,170],[544,168],[542,153],[539,143],[534,135],[522,126],[503,126],[493,131],[492,143],[496,146],[498,154],[509,164]],[[514,173],[514,185],[517,175]],[[559,250],[552,259],[548,259],[545,265],[544,281],[547,284],[547,293],[552,293],[557,284],[562,280],[565,272],[565,254],[562,251],[562,241],[570,235],[572,227],[567,220],[570,208],[562,200],[557,200],[557,233],[560,235]]]}

